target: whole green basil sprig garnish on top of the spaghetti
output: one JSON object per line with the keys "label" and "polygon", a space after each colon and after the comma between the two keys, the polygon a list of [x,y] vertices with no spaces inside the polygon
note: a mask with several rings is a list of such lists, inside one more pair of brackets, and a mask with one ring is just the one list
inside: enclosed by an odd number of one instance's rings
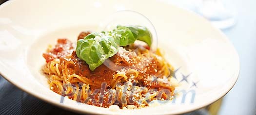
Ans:
{"label": "whole green basil sprig garnish on top of the spaghetti", "polygon": [[142,26],[117,26],[110,32],[91,33],[77,42],[77,56],[84,60],[90,70],[118,52],[118,46],[127,46],[140,40],[151,45],[151,33]]}

